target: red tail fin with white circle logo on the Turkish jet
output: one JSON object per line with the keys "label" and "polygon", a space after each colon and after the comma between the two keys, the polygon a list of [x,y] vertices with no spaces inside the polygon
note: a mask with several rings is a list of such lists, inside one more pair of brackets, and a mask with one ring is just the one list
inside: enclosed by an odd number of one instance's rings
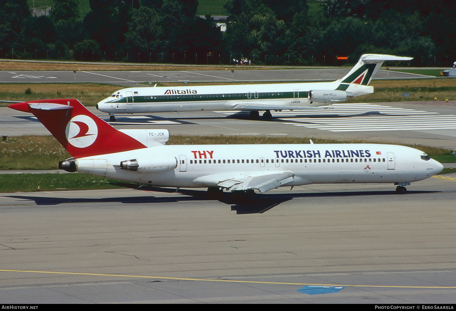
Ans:
{"label": "red tail fin with white circle logo on the Turkish jet", "polygon": [[36,100],[8,107],[34,114],[75,158],[146,148],[88,111],[77,99]]}

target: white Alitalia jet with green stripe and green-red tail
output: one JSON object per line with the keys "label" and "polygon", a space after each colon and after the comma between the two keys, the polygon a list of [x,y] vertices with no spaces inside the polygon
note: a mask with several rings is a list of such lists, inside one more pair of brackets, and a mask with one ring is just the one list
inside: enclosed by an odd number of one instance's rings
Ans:
{"label": "white Alitalia jet with green stripe and green-red tail", "polygon": [[[270,110],[309,109],[373,93],[369,82],[384,61],[407,61],[411,57],[364,54],[342,79],[333,82],[238,84],[218,86],[124,88],[97,104],[114,114],[244,110],[256,119],[271,119]],[[155,84],[156,86],[156,84]]]}

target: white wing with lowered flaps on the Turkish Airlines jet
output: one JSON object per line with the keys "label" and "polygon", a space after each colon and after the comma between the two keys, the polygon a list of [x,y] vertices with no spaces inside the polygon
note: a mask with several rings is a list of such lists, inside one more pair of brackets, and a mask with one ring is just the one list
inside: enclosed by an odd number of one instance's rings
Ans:
{"label": "white wing with lowered flaps on the Turkish Airlines jet", "polygon": [[263,171],[255,172],[252,175],[244,172],[232,172],[229,176],[226,173],[201,176],[193,180],[193,182],[205,187],[217,185],[227,191],[258,189],[259,192],[264,193],[293,181],[294,176],[295,174],[290,171],[274,173]]}

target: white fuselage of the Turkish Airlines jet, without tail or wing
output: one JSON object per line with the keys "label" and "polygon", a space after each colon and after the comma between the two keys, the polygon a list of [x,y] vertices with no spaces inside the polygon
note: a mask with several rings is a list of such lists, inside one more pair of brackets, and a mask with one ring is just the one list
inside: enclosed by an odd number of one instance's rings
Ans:
{"label": "white fuselage of the Turkish Airlines jet, without tail or wing", "polygon": [[[141,161],[170,158],[176,159],[176,167],[168,171],[120,168],[122,161],[135,159],[141,166]],[[225,180],[279,172],[294,175],[282,186],[401,183],[428,178],[443,168],[420,150],[376,144],[163,145],[77,161],[79,172],[168,187],[216,187]]]}

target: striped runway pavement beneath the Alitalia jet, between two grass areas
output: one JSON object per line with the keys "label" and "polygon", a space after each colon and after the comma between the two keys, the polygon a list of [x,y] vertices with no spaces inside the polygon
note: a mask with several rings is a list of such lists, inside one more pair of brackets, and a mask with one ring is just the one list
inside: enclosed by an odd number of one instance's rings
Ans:
{"label": "striped runway pavement beneath the Alitalia jet, between two grass areas", "polygon": [[[100,113],[95,107],[88,109],[109,122],[108,114]],[[249,119],[249,114],[244,112],[202,111],[119,114],[115,122],[109,123],[118,129],[164,128],[171,135],[289,135],[456,149],[455,109],[455,101],[341,103],[321,110],[273,111],[270,121]],[[31,114],[0,107],[0,135],[50,133]]]}

